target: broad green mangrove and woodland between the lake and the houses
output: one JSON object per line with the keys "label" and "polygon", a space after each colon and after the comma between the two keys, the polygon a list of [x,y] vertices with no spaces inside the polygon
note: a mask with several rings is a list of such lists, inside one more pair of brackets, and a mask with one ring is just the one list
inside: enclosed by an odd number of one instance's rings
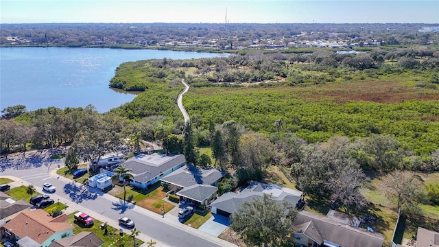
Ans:
{"label": "broad green mangrove and woodland between the lake and the houses", "polygon": [[[368,207],[359,189],[366,174],[377,173],[390,174],[389,198],[399,189],[392,178],[412,185],[403,188],[405,200],[395,200],[407,215],[437,205],[438,185],[423,187],[398,172],[439,171],[438,47],[307,51],[126,62],[110,86],[142,91],[132,102],[104,114],[93,106],[5,108],[1,152],[69,145],[66,164],[75,167],[127,145],[136,152],[141,140],[160,141],[190,163],[236,172],[219,193],[263,180],[276,165],[307,196],[346,213]],[[186,125],[176,106],[183,79],[191,85],[183,97]],[[211,155],[200,152],[206,147]]]}

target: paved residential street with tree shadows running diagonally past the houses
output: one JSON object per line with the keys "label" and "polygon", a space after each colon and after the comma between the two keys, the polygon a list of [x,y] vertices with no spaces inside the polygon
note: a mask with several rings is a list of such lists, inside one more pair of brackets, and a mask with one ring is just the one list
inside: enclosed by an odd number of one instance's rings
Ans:
{"label": "paved residential street with tree shadows running diagonally past the houses", "polygon": [[[73,180],[58,176],[56,169],[62,167],[64,159],[53,161],[50,152],[45,150],[36,154],[21,154],[0,159],[1,177],[11,178],[12,187],[33,184],[37,191],[42,191],[43,183],[51,183],[56,187],[51,198],[67,204],[66,213],[83,211],[102,222],[108,222],[115,228],[119,226],[117,219],[123,215],[134,220],[136,228],[141,232],[139,239],[144,242],[153,239],[156,246],[235,246],[208,233],[204,233],[178,221],[178,217],[169,213],[158,215],[133,204],[125,204],[123,200],[102,193],[99,189],[84,186]],[[130,229],[124,229],[130,233]],[[145,245],[146,246],[146,245]]]}

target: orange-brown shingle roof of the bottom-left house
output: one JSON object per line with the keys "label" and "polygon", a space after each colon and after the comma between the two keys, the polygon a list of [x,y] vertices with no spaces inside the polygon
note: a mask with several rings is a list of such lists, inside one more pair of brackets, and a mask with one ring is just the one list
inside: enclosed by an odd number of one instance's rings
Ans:
{"label": "orange-brown shingle roof of the bottom-left house", "polygon": [[20,213],[10,222],[6,223],[4,227],[17,237],[27,236],[43,244],[54,233],[73,228],[73,226],[66,222],[66,219],[67,215],[65,214],[51,217],[43,209],[36,209]]}

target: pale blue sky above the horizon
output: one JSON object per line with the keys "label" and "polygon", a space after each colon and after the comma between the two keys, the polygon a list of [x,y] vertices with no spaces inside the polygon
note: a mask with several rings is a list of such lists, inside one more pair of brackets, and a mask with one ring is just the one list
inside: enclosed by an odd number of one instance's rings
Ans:
{"label": "pale blue sky above the horizon", "polygon": [[439,23],[439,1],[0,0],[0,23]]}

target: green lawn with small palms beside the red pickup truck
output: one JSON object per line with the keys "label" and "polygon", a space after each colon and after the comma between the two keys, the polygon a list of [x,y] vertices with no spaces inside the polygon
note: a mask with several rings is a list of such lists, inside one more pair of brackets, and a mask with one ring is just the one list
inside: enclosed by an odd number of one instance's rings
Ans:
{"label": "green lawn with small palms beside the red pickup truck", "polygon": [[[118,243],[120,242],[123,242],[125,246],[134,246],[132,237],[130,237],[130,235],[124,233],[123,237],[121,237],[119,235],[119,230],[112,226],[107,226],[108,233],[105,235],[104,229],[100,228],[102,222],[100,222],[99,220],[94,219],[95,224],[90,227],[84,227],[81,223],[75,222],[75,218],[73,217],[73,215],[77,212],[78,211],[69,214],[69,220],[67,220],[67,223],[71,224],[74,227],[73,234],[76,235],[82,231],[92,231],[97,235],[97,237],[104,241],[104,244],[102,246],[118,246]],[[143,244],[143,241],[137,239],[136,243],[138,244],[138,246],[140,246],[141,244]]]}

